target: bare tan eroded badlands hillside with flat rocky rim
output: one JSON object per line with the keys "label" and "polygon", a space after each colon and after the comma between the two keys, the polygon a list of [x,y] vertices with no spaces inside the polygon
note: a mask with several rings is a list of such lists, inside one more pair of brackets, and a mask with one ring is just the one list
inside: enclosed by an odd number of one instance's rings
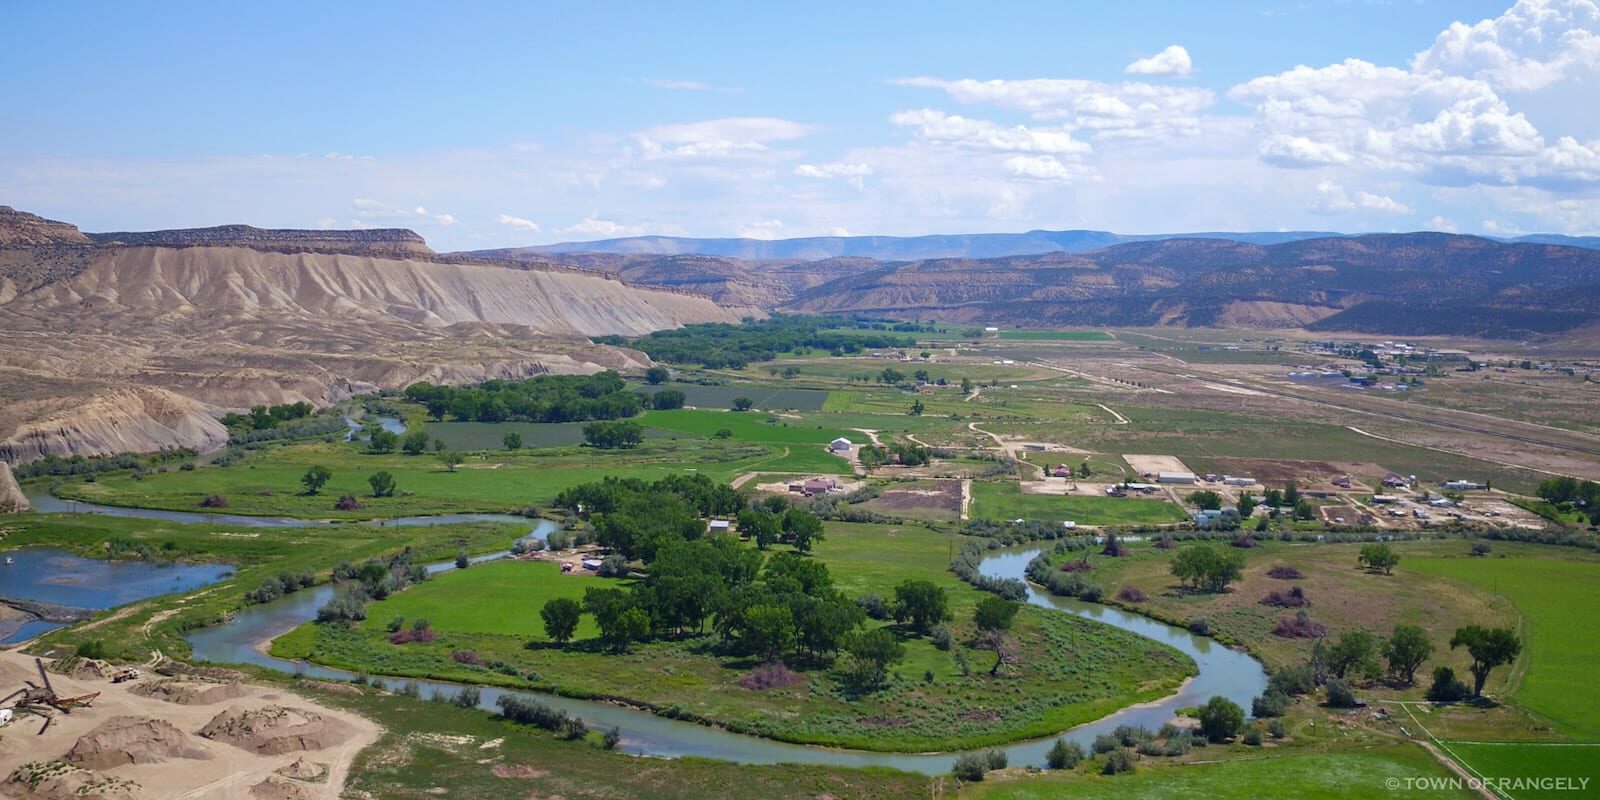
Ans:
{"label": "bare tan eroded badlands hillside with flat rocky rim", "polygon": [[253,403],[640,368],[589,336],[747,314],[578,269],[442,258],[410,230],[85,235],[0,206],[0,461],[214,448],[214,416]]}

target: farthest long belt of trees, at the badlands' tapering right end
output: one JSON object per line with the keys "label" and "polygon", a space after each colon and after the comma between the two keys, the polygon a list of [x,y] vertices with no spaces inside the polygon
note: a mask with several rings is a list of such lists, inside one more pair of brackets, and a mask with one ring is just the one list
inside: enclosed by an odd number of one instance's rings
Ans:
{"label": "farthest long belt of trees, at the badlands' tapering right end", "polygon": [[837,317],[774,314],[766,320],[747,318],[739,325],[702,323],[656,331],[637,339],[595,338],[598,344],[643,350],[664,363],[701,365],[709,370],[742,370],[754,362],[770,362],[779,354],[814,349],[848,355],[867,349],[910,347],[915,339],[877,330],[837,330],[854,323]]}

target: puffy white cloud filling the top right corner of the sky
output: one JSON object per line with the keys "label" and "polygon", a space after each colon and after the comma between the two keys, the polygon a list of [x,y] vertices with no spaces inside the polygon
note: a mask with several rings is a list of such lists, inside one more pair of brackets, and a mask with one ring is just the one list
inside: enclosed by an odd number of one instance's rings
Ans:
{"label": "puffy white cloud filling the top right corner of the sky", "polygon": [[1464,75],[1502,91],[1534,91],[1600,74],[1600,5],[1518,0],[1494,19],[1451,22],[1411,59],[1411,70]]}

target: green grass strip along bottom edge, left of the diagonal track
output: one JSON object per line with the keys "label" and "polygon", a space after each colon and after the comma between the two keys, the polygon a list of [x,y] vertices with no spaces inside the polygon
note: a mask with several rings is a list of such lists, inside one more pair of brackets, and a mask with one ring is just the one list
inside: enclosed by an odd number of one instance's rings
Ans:
{"label": "green grass strip along bottom edge, left of the diagonal track", "polygon": [[[1200,750],[1203,752],[1203,750]],[[986,800],[1344,800],[1347,797],[1459,798],[1466,789],[1427,787],[1406,779],[1443,779],[1445,771],[1421,747],[1387,746],[1357,752],[1283,752],[1218,763],[1144,766],[1133,774],[1043,773],[970,784],[962,797]],[[1395,784],[1390,784],[1395,781]]]}

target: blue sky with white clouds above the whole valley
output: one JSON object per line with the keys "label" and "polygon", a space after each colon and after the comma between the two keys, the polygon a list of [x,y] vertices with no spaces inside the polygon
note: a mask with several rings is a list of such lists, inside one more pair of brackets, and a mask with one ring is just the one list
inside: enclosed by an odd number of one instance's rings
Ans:
{"label": "blue sky with white clouds above the whole valley", "polygon": [[88,230],[1600,230],[1595,0],[10,3]]}

